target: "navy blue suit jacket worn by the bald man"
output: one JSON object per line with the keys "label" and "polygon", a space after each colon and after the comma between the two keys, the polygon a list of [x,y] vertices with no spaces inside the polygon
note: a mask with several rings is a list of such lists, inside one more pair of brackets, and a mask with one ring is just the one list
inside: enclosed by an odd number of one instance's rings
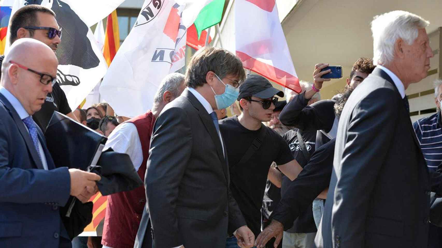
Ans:
{"label": "navy blue suit jacket worn by the bald man", "polygon": [[49,170],[26,126],[0,94],[0,247],[70,246],[59,206],[69,198],[67,167],[55,168],[42,131],[38,138]]}

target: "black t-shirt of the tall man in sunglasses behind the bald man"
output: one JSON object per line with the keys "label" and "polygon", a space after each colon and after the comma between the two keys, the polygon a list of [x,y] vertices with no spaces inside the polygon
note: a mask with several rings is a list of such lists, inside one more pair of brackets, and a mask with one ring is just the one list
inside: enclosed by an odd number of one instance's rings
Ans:
{"label": "black t-shirt of the tall man in sunglasses behind the bald man", "polygon": [[65,92],[60,88],[58,83],[52,87],[52,93],[48,93],[45,103],[42,105],[42,109],[32,115],[35,123],[42,129],[43,133],[46,132],[46,127],[52,117],[54,111],[58,111],[61,114],[67,115],[72,112],[69,107],[68,100],[66,99]]}

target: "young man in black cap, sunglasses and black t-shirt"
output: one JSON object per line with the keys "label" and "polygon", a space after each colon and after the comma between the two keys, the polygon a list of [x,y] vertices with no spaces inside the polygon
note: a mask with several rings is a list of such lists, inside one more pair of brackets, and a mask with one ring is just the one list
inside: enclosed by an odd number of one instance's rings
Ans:
{"label": "young man in black cap, sunglasses and black t-shirt", "polygon": [[[281,135],[262,124],[272,118],[278,102],[275,95],[283,97],[284,93],[273,88],[267,79],[249,75],[240,85],[238,96],[242,114],[219,122],[229,158],[230,189],[247,226],[255,235],[261,229],[261,206],[267,176],[279,183],[281,180],[281,177],[274,177],[280,175],[276,169],[270,170],[272,162],[291,180],[302,170]],[[226,248],[236,247],[235,237],[228,238]]]}

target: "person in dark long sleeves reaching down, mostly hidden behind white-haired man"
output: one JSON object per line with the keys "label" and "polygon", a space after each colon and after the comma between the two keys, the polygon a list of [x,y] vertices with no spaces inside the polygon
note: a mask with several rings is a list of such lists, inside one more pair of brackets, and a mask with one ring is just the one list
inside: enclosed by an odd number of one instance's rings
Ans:
{"label": "person in dark long sleeves reaching down, mostly hidden behind white-haired man", "polygon": [[[346,87],[345,91],[336,100],[334,113],[338,119],[353,90],[352,87]],[[265,247],[272,237],[276,237],[274,244],[279,244],[282,238],[282,230],[289,228],[293,224],[293,220],[301,216],[303,212],[312,211],[311,205],[316,197],[327,198],[327,188],[333,169],[334,150],[335,138],[312,152],[310,159],[298,177],[286,186],[286,194],[282,195],[282,199],[271,215],[271,224],[256,238],[255,245],[257,248]],[[321,219],[321,215],[314,217],[315,222],[316,219]],[[283,242],[286,239],[285,233]]]}

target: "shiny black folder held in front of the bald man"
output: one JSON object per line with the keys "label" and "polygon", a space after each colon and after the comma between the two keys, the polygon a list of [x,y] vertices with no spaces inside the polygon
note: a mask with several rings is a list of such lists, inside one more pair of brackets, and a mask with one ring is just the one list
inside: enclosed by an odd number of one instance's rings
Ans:
{"label": "shiny black folder held in front of the bald man", "polygon": [[54,111],[46,128],[46,144],[55,167],[87,170],[96,165],[107,138]]}

